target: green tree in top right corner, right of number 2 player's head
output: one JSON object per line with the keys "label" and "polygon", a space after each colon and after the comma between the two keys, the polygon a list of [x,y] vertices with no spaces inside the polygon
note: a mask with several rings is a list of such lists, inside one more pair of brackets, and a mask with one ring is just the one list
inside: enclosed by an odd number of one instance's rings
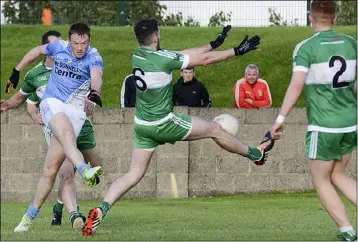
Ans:
{"label": "green tree in top right corner, right of number 2 player's head", "polygon": [[337,25],[357,24],[357,1],[337,1]]}

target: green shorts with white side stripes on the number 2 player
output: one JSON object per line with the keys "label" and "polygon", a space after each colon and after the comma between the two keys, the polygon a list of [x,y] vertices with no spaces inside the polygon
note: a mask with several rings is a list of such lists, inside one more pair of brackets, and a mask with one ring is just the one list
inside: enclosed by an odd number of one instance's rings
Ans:
{"label": "green shorts with white side stripes on the number 2 player", "polygon": [[306,134],[306,156],[311,160],[341,160],[342,155],[356,149],[357,131],[340,134],[310,131]]}

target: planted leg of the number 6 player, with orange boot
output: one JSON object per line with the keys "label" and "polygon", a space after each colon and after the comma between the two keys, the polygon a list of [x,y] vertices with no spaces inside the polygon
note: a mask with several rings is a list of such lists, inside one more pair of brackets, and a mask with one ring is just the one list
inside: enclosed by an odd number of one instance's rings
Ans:
{"label": "planted leg of the number 6 player, with orange boot", "polygon": [[154,150],[134,148],[131,156],[129,171],[117,178],[110,186],[101,204],[91,209],[87,222],[82,229],[83,236],[92,236],[96,232],[102,219],[109,209],[132,187],[134,187],[146,173]]}

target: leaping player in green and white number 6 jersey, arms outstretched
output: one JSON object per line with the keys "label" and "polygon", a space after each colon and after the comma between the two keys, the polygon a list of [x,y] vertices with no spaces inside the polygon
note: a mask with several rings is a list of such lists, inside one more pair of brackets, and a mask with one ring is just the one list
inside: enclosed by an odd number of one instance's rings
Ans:
{"label": "leaping player in green and white number 6 jersey, arms outstretched", "polygon": [[270,137],[259,147],[251,148],[224,131],[215,122],[173,111],[172,71],[181,68],[213,64],[256,49],[260,38],[246,37],[234,48],[211,51],[227,36],[227,26],[215,41],[203,47],[183,51],[161,50],[158,22],[139,21],[134,32],[140,47],[132,57],[133,74],[137,86],[134,117],[134,149],[127,174],[113,182],[99,207],[90,211],[83,235],[93,235],[108,210],[144,176],[154,149],[164,143],[180,140],[213,138],[222,148],[263,164],[273,146]]}

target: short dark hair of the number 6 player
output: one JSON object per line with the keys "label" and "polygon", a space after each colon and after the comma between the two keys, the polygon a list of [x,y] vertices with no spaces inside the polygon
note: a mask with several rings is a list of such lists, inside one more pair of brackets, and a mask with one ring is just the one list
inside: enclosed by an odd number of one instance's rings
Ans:
{"label": "short dark hair of the number 6 player", "polygon": [[148,44],[148,37],[158,30],[158,20],[154,18],[141,19],[134,26],[135,37],[140,44]]}

